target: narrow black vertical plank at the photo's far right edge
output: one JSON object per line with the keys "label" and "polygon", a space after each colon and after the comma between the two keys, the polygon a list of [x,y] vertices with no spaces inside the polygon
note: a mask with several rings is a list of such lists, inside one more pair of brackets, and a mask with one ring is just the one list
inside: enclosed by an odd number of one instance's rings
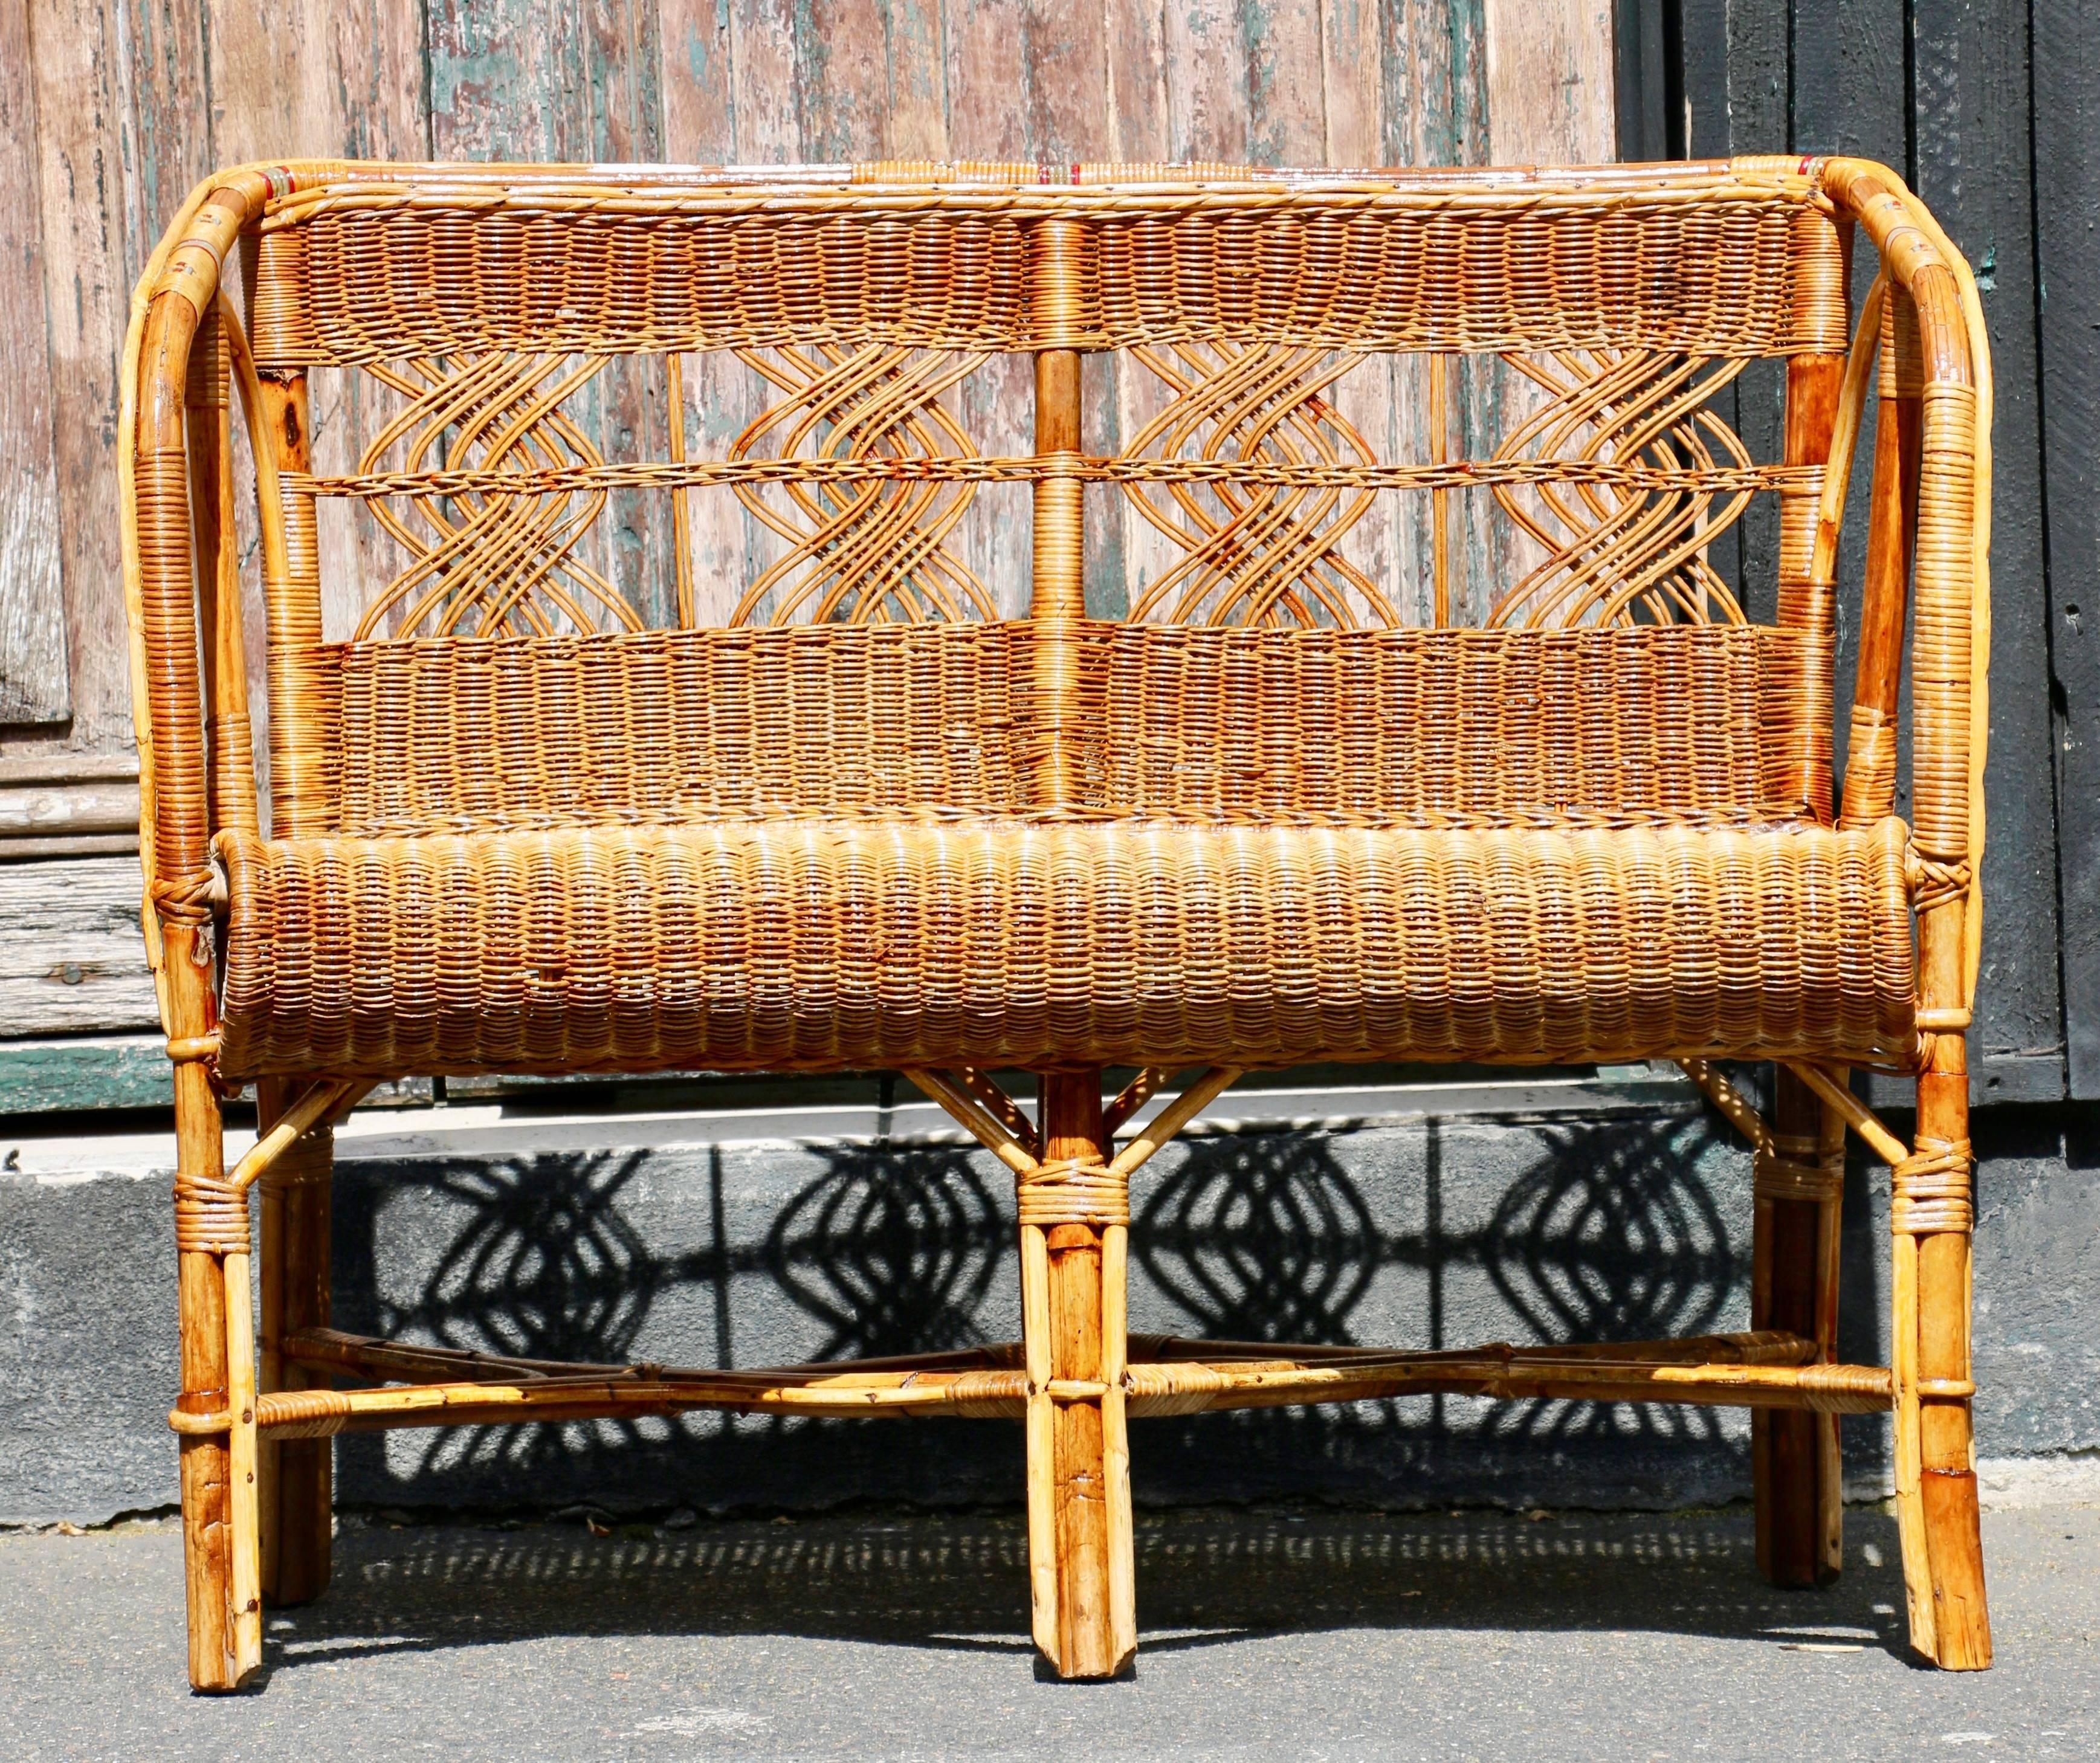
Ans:
{"label": "narrow black vertical plank at the photo's far right edge", "polygon": [[[2100,1098],[2100,31],[2035,0],[2043,508],[2071,1093]],[[2003,592],[2003,590],[2001,590]]]}

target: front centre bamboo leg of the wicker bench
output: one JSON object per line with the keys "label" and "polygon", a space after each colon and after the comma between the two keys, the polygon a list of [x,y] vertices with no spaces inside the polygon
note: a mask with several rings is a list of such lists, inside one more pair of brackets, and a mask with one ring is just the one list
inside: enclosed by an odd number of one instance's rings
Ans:
{"label": "front centre bamboo leg of the wicker bench", "polygon": [[[1042,1138],[1046,1165],[1107,1161],[1098,1070],[1044,1077]],[[1126,1253],[1124,1224],[1021,1228],[1033,1627],[1058,1677],[1113,1677],[1136,1652]]]}

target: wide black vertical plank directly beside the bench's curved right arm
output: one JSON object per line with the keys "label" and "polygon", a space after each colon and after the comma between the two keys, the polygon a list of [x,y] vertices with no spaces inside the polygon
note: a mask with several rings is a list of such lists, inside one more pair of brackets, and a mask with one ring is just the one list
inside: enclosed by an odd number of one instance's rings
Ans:
{"label": "wide black vertical plank directly beside the bench's curved right arm", "polygon": [[1915,0],[1913,19],[1915,189],[1976,271],[1997,376],[1991,844],[1972,1091],[2039,1102],[2064,1093],[2064,1054],[2026,0]]}

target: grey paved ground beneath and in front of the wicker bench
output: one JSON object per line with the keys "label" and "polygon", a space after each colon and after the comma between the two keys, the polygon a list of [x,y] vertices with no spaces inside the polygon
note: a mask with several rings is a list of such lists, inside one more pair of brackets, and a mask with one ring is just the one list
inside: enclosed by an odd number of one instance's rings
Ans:
{"label": "grey paved ground beneath and in front of the wicker bench", "polygon": [[1745,1511],[1140,1515],[1134,1681],[1037,1681],[1012,1513],[344,1522],[258,1694],[183,1687],[168,1524],[0,1536],[0,1755],[2100,1757],[2100,1507],[1984,1522],[1995,1671],[1903,1650],[1894,1524],[1774,1593]]}

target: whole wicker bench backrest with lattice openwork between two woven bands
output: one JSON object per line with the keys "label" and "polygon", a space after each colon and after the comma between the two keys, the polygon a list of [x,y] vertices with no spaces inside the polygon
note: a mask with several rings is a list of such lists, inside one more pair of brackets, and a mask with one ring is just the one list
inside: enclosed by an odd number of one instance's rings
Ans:
{"label": "whole wicker bench backrest with lattice openwork between two woven bands", "polygon": [[[353,166],[258,231],[258,384],[353,382],[265,508],[286,831],[1829,812],[1825,460],[1720,403],[1846,348],[1810,168]],[[1655,640],[1743,623],[1760,493],[1785,630]]]}

